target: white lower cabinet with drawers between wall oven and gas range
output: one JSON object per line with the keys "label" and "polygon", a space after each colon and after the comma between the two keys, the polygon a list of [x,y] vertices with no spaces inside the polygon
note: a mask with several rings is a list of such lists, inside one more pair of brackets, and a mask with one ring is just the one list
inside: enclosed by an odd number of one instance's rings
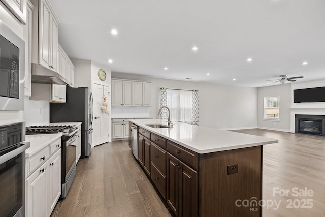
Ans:
{"label": "white lower cabinet with drawers between wall oven and gas range", "polygon": [[61,196],[61,139],[26,158],[26,167],[25,216],[48,217]]}

